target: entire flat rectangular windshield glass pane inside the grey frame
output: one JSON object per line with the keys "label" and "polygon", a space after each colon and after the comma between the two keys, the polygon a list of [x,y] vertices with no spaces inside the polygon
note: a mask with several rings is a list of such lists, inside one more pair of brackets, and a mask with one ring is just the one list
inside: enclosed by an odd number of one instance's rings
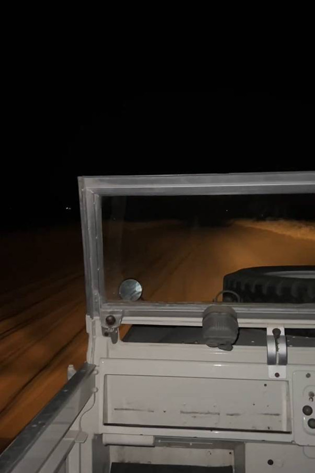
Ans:
{"label": "entire flat rectangular windshield glass pane inside the grey frame", "polygon": [[103,197],[105,299],[315,302],[314,208],[314,194]]}

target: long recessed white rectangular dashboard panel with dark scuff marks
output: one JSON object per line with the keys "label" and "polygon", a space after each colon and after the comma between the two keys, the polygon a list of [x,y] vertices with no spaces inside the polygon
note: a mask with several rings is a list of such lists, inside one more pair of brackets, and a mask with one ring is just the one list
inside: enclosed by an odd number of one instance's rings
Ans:
{"label": "long recessed white rectangular dashboard panel with dark scuff marks", "polygon": [[108,376],[108,423],[288,431],[285,381]]}

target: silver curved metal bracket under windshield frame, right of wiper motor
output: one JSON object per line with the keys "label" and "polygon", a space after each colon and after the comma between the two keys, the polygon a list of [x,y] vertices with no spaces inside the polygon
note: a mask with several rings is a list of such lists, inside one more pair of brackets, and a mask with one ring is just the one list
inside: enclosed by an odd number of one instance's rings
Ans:
{"label": "silver curved metal bracket under windshield frame, right of wiper motor", "polygon": [[267,364],[269,378],[286,378],[287,347],[284,327],[267,327]]}

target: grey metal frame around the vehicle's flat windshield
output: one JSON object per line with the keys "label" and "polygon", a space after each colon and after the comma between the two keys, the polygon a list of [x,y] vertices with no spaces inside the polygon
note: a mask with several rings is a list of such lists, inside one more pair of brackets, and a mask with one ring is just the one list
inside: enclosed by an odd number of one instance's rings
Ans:
{"label": "grey metal frame around the vehicle's flat windshield", "polygon": [[[200,303],[146,303],[115,302],[105,298],[103,238],[102,238],[102,196],[135,195],[235,195],[235,194],[289,194],[315,193],[315,172],[275,172],[242,174],[202,175],[159,175],[159,176],[100,176],[79,177],[81,225],[85,264],[85,285],[87,314],[92,318],[117,313],[140,315],[143,320],[152,319],[155,314],[174,317],[179,313],[195,314],[199,319],[206,307]],[[277,314],[283,319],[288,312],[288,326],[298,317],[299,327],[315,325],[315,304],[231,304],[236,312],[256,320]],[[131,312],[130,312],[131,311]],[[305,316],[303,315],[305,314]],[[269,315],[268,315],[269,314]],[[295,314],[294,316],[292,314]],[[272,316],[274,317],[274,316]],[[127,315],[126,315],[127,318]],[[244,317],[243,317],[244,318]],[[303,318],[303,320],[301,320]],[[290,322],[291,320],[291,322]],[[124,320],[125,322],[125,320]],[[134,322],[132,322],[134,323]],[[142,323],[147,323],[142,321]],[[191,323],[191,322],[190,322]],[[199,321],[195,322],[199,324]],[[245,325],[246,326],[246,325]],[[264,323],[265,326],[265,323]]]}

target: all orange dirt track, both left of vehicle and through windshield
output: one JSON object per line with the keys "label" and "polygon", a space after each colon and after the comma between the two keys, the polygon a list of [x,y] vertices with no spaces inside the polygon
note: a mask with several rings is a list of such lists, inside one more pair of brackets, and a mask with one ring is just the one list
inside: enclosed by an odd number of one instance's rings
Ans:
{"label": "all orange dirt track, both left of vehicle and through windshield", "polygon": [[[259,265],[315,264],[310,239],[236,225],[128,229],[121,264],[109,258],[115,298],[124,277],[139,278],[144,299],[211,301],[224,274]],[[117,246],[116,246],[117,249]],[[6,235],[1,240],[0,447],[85,360],[85,293],[78,226]]]}

